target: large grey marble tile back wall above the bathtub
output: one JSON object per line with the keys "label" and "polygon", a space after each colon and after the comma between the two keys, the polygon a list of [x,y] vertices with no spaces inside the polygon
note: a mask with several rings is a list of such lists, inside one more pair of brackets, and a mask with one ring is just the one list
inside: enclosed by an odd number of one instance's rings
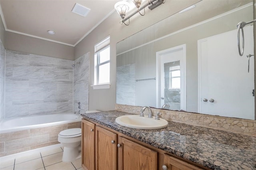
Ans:
{"label": "large grey marble tile back wall above the bathtub", "polygon": [[4,118],[72,113],[73,63],[6,50]]}

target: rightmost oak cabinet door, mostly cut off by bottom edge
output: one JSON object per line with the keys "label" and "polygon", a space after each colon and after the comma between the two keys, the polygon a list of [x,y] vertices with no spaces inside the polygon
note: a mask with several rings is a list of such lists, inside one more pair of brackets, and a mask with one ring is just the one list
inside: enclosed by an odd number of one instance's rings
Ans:
{"label": "rightmost oak cabinet door, mostly cut off by bottom edge", "polygon": [[[166,170],[203,170],[198,166],[194,166],[184,160],[180,160],[178,158],[174,158],[173,156],[169,156],[164,154],[164,165],[167,167]],[[165,170],[163,168],[163,170]]]}

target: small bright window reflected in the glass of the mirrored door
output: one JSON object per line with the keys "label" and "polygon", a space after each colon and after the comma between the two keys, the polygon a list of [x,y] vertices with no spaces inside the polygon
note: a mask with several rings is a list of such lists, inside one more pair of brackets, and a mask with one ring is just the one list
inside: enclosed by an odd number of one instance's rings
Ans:
{"label": "small bright window reflected in the glass of the mirrored door", "polygon": [[180,89],[180,66],[170,67],[170,89]]}

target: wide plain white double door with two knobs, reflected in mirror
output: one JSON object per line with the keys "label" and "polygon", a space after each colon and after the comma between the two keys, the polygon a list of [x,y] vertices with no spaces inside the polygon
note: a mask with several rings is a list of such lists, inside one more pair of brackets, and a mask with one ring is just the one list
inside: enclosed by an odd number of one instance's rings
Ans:
{"label": "wide plain white double door with two knobs, reflected in mirror", "polygon": [[[244,55],[238,53],[237,30],[198,40],[198,112],[254,119],[253,26],[244,28]],[[213,99],[210,101],[210,99]]]}

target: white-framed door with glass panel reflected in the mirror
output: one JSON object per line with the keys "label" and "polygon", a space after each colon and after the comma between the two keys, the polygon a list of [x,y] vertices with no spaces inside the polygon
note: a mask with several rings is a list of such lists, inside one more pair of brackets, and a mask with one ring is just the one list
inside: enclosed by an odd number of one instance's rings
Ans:
{"label": "white-framed door with glass panel reflected in the mirror", "polygon": [[186,45],[157,52],[157,106],[186,110]]}

